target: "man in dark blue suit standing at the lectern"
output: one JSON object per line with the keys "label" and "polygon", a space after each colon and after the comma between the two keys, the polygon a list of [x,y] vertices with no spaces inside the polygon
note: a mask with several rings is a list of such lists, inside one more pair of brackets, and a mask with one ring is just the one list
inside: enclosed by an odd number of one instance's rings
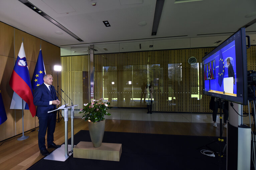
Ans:
{"label": "man in dark blue suit standing at the lectern", "polygon": [[37,106],[36,116],[39,120],[38,146],[40,153],[44,156],[49,155],[45,147],[45,134],[47,129],[48,148],[58,148],[60,145],[53,143],[53,133],[56,124],[56,105],[60,104],[56,91],[52,85],[53,78],[51,75],[43,76],[44,83],[37,86],[34,91],[34,104]]}

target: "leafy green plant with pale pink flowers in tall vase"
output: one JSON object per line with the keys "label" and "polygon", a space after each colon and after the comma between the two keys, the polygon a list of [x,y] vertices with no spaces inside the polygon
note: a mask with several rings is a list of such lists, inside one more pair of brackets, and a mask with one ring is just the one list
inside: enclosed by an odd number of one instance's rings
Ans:
{"label": "leafy green plant with pale pink flowers in tall vase", "polygon": [[103,98],[92,100],[90,103],[84,104],[83,109],[81,109],[79,113],[84,113],[83,119],[85,119],[85,121],[89,119],[93,123],[99,122],[105,120],[105,115],[111,116],[111,114],[107,112],[109,105],[110,102],[103,101]]}

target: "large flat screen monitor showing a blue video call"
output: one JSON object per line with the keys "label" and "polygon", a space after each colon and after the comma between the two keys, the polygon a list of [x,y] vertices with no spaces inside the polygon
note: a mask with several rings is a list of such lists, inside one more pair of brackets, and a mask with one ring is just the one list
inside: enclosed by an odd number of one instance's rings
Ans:
{"label": "large flat screen monitor showing a blue video call", "polygon": [[245,28],[203,57],[203,94],[247,105]]}

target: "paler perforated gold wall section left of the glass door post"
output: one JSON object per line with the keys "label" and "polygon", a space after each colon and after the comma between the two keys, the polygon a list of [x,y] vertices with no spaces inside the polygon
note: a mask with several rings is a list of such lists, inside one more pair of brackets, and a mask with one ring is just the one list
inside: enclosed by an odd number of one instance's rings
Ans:
{"label": "paler perforated gold wall section left of the glass door post", "polygon": [[[61,57],[61,66],[62,90],[71,97],[73,104],[78,104],[76,109],[81,109],[83,107],[83,71],[88,72],[88,55]],[[61,96],[71,104],[70,99],[63,92]]]}

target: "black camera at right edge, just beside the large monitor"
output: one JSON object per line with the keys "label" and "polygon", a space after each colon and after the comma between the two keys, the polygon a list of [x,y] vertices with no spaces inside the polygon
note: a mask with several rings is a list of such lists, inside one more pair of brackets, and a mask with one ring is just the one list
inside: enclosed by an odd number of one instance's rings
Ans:
{"label": "black camera at right edge, just beside the large monitor", "polygon": [[247,71],[247,84],[248,84],[248,100],[254,100],[255,88],[256,85],[256,71],[249,70]]}

